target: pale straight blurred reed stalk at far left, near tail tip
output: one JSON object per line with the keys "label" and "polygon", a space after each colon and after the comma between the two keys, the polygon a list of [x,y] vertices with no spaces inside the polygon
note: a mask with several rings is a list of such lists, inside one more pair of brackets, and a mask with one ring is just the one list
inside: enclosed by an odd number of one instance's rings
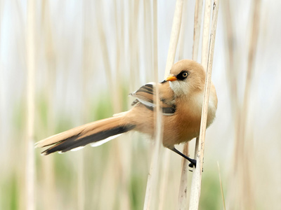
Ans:
{"label": "pale straight blurred reed stalk at far left, near tail tip", "polygon": [[34,116],[35,116],[35,1],[27,1],[27,137],[25,166],[26,209],[34,206]]}

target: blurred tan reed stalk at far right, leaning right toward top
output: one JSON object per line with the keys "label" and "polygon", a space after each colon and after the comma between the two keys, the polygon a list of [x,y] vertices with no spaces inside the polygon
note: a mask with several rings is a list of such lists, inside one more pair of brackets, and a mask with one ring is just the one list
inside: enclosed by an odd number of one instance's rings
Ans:
{"label": "blurred tan reed stalk at far right, leaning right toward top", "polygon": [[[256,57],[256,47],[259,38],[259,17],[260,17],[260,6],[261,1],[253,1],[253,16],[251,22],[251,31],[249,38],[249,51],[248,51],[248,63],[247,63],[247,77],[246,84],[244,87],[244,99],[242,109],[240,111],[240,129],[238,130],[237,137],[240,137],[240,141],[244,144],[240,144],[240,155],[239,161],[237,162],[240,166],[241,175],[238,177],[239,183],[242,184],[242,192],[240,192],[240,203],[245,209],[254,209],[254,186],[251,177],[251,165],[253,163],[253,142],[251,138],[247,138],[247,124],[248,124],[248,113],[249,113],[249,97],[251,91],[252,76],[254,73],[254,59]],[[247,198],[247,199],[245,199]]]}

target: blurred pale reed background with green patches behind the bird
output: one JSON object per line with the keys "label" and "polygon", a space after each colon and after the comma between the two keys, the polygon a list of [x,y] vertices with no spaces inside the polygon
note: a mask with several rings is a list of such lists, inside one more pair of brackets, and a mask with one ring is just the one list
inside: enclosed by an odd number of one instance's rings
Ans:
{"label": "blurred pale reed background with green patches behind the bird", "polygon": [[[0,209],[143,209],[148,138],[125,134],[46,157],[27,142],[129,109],[129,92],[155,80],[155,22],[163,80],[175,5],[0,1]],[[176,61],[192,58],[195,1],[183,6]],[[280,8],[277,0],[221,1],[218,111],[207,130],[200,209],[223,209],[217,162],[226,209],[280,209]],[[178,209],[179,155],[169,155],[167,172],[161,206]]]}

